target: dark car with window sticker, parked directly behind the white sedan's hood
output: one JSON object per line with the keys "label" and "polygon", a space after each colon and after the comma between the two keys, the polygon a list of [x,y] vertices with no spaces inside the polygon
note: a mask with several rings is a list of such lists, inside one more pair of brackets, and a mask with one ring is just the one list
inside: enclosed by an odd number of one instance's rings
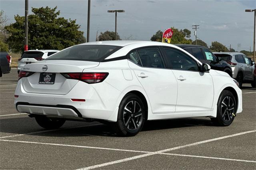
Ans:
{"label": "dark car with window sticker, parked directly behind the white sedan's hood", "polygon": [[230,65],[222,60],[220,57],[216,57],[208,48],[201,45],[192,44],[175,44],[178,47],[188,51],[194,57],[196,57],[202,63],[209,64],[211,69],[220,70],[228,73],[232,77],[232,69]]}

